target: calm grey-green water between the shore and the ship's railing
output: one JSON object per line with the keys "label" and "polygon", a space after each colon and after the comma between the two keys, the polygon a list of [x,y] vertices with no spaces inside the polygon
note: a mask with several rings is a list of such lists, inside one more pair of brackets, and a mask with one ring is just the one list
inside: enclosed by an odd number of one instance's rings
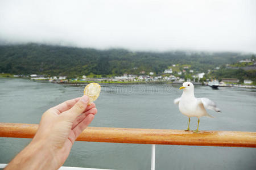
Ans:
{"label": "calm grey-green water between the shore and the ship's railing", "polygon": [[[43,112],[82,95],[81,87],[0,79],[0,122],[38,124]],[[185,129],[188,118],[173,100],[171,85],[102,85],[98,113],[90,126]],[[201,130],[256,131],[256,90],[195,87],[196,97],[216,101],[222,113],[200,119]],[[197,119],[192,118],[196,129]],[[31,139],[0,138],[0,163],[8,163]],[[156,146],[156,169],[256,169],[256,149],[203,146]],[[151,145],[75,142],[64,164],[73,167],[150,169]]]}

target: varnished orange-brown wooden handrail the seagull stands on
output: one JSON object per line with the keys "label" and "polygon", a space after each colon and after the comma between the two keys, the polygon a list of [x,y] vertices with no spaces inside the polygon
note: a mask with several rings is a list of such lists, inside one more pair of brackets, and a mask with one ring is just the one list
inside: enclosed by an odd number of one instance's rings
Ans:
{"label": "varnished orange-brown wooden handrail the seagull stands on", "polygon": [[[33,138],[38,125],[0,123],[0,137]],[[256,147],[256,133],[88,127],[76,141],[157,145]]]}

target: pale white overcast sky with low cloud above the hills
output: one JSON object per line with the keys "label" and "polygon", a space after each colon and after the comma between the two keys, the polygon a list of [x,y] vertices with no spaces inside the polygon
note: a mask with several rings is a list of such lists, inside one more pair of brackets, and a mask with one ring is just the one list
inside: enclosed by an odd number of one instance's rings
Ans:
{"label": "pale white overcast sky with low cloud above the hills", "polygon": [[256,1],[0,1],[0,41],[256,52]]}

